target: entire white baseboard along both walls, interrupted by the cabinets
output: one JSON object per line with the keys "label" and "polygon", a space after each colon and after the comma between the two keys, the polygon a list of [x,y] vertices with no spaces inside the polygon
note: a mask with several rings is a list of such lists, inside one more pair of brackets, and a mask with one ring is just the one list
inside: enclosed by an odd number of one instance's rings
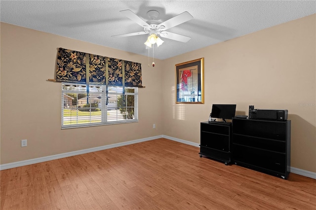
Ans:
{"label": "entire white baseboard along both walls, interrupted by the cabinets", "polygon": [[[50,155],[50,156],[46,156],[46,157],[40,157],[40,158],[34,158],[34,159],[30,159],[30,160],[23,160],[23,161],[18,161],[18,162],[13,162],[13,163],[2,164],[2,165],[0,165],[0,170],[12,169],[15,167],[20,167],[20,166],[27,166],[27,165],[31,165],[31,164],[35,164],[35,163],[41,163],[41,162],[45,162],[45,161],[56,160],[59,158],[65,158],[65,157],[70,157],[70,156],[74,156],[74,155],[81,155],[81,154],[85,154],[85,153],[89,153],[89,152],[95,152],[95,151],[100,151],[100,150],[104,150],[104,149],[111,149],[114,147],[125,146],[125,145],[139,143],[139,142],[148,141],[148,140],[156,140],[156,139],[160,139],[160,138],[174,140],[174,141],[177,141],[180,143],[199,147],[199,143],[195,143],[195,142],[188,141],[188,140],[181,140],[181,139],[177,139],[177,138],[169,137],[169,136],[165,136],[165,135],[160,135],[160,136],[149,137],[149,138],[144,138],[144,139],[139,139],[139,140],[125,141],[125,142],[121,142],[121,143],[114,143],[114,144],[110,144],[110,145],[98,146],[98,147],[93,147],[93,148],[89,148],[89,149],[82,149],[82,150],[77,150],[77,151],[73,151],[73,152],[66,152],[66,153],[57,154],[57,155]],[[291,167],[291,173],[297,174],[297,175],[303,175],[306,177],[316,179],[316,173],[306,171],[303,169],[297,169],[297,168]]]}

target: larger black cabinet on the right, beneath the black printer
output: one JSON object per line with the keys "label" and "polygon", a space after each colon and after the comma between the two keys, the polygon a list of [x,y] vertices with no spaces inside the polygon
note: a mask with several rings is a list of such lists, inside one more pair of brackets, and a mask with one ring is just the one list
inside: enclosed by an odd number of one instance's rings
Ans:
{"label": "larger black cabinet on the right, beneath the black printer", "polygon": [[286,179],[290,173],[291,121],[233,118],[236,165]]}

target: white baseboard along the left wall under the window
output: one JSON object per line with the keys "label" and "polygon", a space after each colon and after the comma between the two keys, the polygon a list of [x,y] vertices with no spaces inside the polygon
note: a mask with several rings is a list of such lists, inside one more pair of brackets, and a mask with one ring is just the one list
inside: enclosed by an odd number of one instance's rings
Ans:
{"label": "white baseboard along the left wall under the window", "polygon": [[46,156],[46,157],[34,158],[34,159],[30,159],[30,160],[23,160],[23,161],[18,161],[18,162],[13,162],[13,163],[1,164],[0,170],[11,169],[11,168],[20,167],[20,166],[27,166],[27,165],[31,165],[31,164],[35,164],[35,163],[41,163],[41,162],[45,162],[45,161],[56,160],[59,158],[81,155],[81,154],[100,151],[100,150],[104,150],[104,149],[111,149],[111,148],[118,147],[118,146],[125,146],[125,145],[129,145],[129,144],[133,144],[133,143],[139,143],[139,142],[148,141],[148,140],[155,140],[155,139],[159,139],[159,138],[163,138],[162,135],[156,136],[156,137],[139,139],[139,140],[131,140],[131,141],[125,141],[125,142],[121,142],[121,143],[114,143],[114,144],[105,145],[105,146],[98,146],[98,147],[93,147],[93,148],[89,148],[89,149],[82,149],[82,150],[77,150],[77,151],[73,151],[73,152],[66,152],[66,153],[57,154],[57,155],[50,155],[50,156]]}

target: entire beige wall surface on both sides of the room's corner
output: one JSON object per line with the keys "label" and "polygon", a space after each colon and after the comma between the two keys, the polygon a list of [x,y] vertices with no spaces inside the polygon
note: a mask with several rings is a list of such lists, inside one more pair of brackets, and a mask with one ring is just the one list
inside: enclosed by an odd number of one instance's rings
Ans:
{"label": "entire beige wall surface on both sides of the room's corner", "polygon": [[[199,143],[211,105],[288,109],[291,166],[316,172],[316,15],[176,56],[148,58],[1,23],[1,164],[166,135]],[[139,122],[61,130],[57,48],[142,63]],[[175,104],[175,64],[204,58],[205,103]],[[162,88],[162,90],[161,90]],[[38,106],[43,100],[45,105]],[[157,128],[153,129],[153,123]],[[126,130],[125,133],[121,130]],[[27,147],[20,140],[28,139]],[[197,155],[198,157],[198,155]]]}

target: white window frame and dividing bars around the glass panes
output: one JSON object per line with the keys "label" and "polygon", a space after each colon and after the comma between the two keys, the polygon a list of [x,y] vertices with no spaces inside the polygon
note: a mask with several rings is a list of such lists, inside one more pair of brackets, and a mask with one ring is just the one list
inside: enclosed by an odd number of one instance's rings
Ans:
{"label": "white window frame and dividing bars around the glass panes", "polygon": [[[76,88],[76,90],[64,90],[64,85],[66,86],[74,86]],[[100,89],[98,89],[98,91],[93,91],[93,88],[96,87],[100,87]],[[91,94],[95,94],[95,93],[100,93],[101,94],[101,122],[91,122],[91,105],[89,107],[89,118],[90,118],[90,122],[89,123],[78,123],[78,111],[79,111],[79,102],[78,102],[78,98],[77,98],[77,105],[75,105],[75,110],[77,111],[77,115],[75,116],[75,118],[77,117],[77,123],[76,124],[70,124],[70,125],[65,125],[65,120],[64,120],[64,101],[66,100],[64,98],[64,95],[67,95],[69,93],[75,93],[77,94],[87,94],[86,92],[86,84],[79,84],[79,83],[69,83],[69,82],[62,82],[61,85],[61,89],[62,89],[62,93],[61,93],[61,129],[70,129],[70,128],[84,128],[84,127],[94,127],[94,126],[103,126],[103,125],[115,125],[115,124],[125,124],[125,123],[134,123],[134,122],[138,122],[138,87],[124,87],[125,91],[124,91],[124,98],[126,99],[128,95],[134,95],[134,114],[133,114],[133,119],[122,119],[122,120],[118,120],[118,114],[122,115],[120,113],[119,107],[118,107],[118,97],[117,97],[117,101],[116,101],[116,120],[114,121],[110,121],[108,119],[108,113],[109,110],[108,109],[108,105],[106,105],[106,85],[89,85],[89,95]],[[78,90],[79,89],[79,90]],[[128,91],[126,91],[127,89],[134,89],[134,93],[129,93]],[[114,92],[114,94],[117,95],[122,95],[122,86],[109,86],[108,87],[108,95],[110,95],[112,92]],[[68,96],[68,95],[67,95]],[[69,97],[69,96],[68,96]],[[91,100],[91,99],[90,99]],[[89,102],[89,104],[91,104],[91,101]],[[108,103],[110,104],[110,103]],[[100,106],[98,106],[100,107]],[[128,106],[125,105],[125,108],[127,108]]]}

